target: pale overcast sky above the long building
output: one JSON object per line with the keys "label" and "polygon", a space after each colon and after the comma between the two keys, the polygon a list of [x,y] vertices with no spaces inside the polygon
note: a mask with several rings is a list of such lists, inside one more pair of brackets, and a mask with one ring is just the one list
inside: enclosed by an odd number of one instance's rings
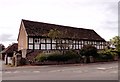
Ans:
{"label": "pale overcast sky above the long building", "polygon": [[118,35],[119,0],[0,0],[0,43],[17,42],[21,19],[95,30],[106,41]]}

